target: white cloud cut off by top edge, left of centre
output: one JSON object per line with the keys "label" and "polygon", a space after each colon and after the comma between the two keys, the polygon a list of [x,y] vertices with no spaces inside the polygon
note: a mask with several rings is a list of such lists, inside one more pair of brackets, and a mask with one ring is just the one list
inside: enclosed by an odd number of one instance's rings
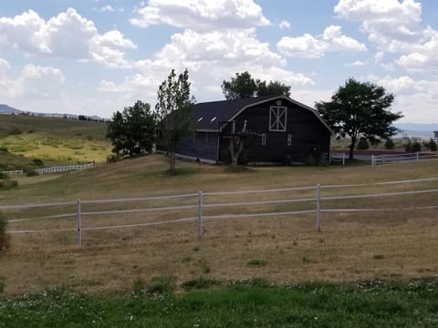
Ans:
{"label": "white cloud cut off by top edge, left of centre", "polygon": [[204,32],[270,24],[253,0],[150,0],[136,14],[130,19],[135,26],[166,24]]}

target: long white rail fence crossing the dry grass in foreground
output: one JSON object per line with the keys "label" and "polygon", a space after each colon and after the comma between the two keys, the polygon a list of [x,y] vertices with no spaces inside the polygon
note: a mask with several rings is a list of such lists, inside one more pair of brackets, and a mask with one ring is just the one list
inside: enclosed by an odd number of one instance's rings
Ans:
{"label": "long white rail fence crossing the dry grass in foreground", "polygon": [[[418,195],[433,195],[438,193],[438,178],[409,179],[401,181],[377,182],[368,184],[346,184],[346,185],[320,185],[308,187],[297,187],[275,190],[242,190],[224,192],[196,192],[172,196],[156,196],[132,199],[116,200],[76,200],[67,202],[27,204],[27,205],[3,205],[0,210],[9,210],[7,215],[10,218],[10,226],[23,225],[29,222],[41,220],[58,220],[53,224],[56,229],[29,229],[22,226],[22,229],[9,229],[10,234],[37,234],[37,233],[75,233],[78,245],[83,243],[83,231],[114,231],[128,228],[141,228],[152,226],[173,225],[178,222],[193,221],[196,225],[198,238],[203,236],[203,222],[205,220],[238,219],[238,218],[263,218],[263,217],[293,217],[293,216],[314,216],[316,230],[321,229],[321,218],[323,213],[351,213],[357,215],[360,212],[397,211],[401,209],[400,197],[415,197]],[[412,190],[412,185],[417,188]],[[422,189],[419,189],[418,186]],[[429,187],[427,187],[429,185]],[[397,190],[395,189],[397,186]],[[406,189],[409,187],[410,189]],[[391,190],[380,190],[388,189]],[[348,189],[348,193],[339,193],[337,190]],[[365,190],[362,193],[351,194],[351,190]],[[293,193],[298,197],[290,198]],[[323,194],[324,193],[324,194]],[[280,197],[285,195],[286,197]],[[251,200],[247,200],[248,197]],[[269,196],[269,197],[268,197]],[[239,200],[239,197],[243,199]],[[256,200],[260,198],[260,200]],[[216,199],[214,201],[214,199]],[[373,208],[362,206],[351,207],[352,202],[357,200],[373,199]],[[378,200],[391,199],[389,204],[381,204]],[[408,210],[434,210],[436,196],[426,198],[426,201],[416,203],[418,206]],[[347,200],[347,201],[346,201]],[[152,202],[153,206],[143,206],[144,202]],[[169,202],[182,202],[179,205],[169,206]],[[349,204],[349,201],[351,202]],[[428,202],[429,201],[429,202]],[[325,206],[322,206],[324,202]],[[432,204],[430,203],[432,202]],[[129,208],[120,207],[120,204],[130,204]],[[139,204],[135,206],[135,204]],[[331,204],[331,206],[329,206]],[[349,206],[346,206],[348,204]],[[97,206],[94,210],[84,210],[84,206]],[[342,207],[341,207],[342,206]],[[57,210],[50,212],[49,209],[69,207],[70,212]],[[257,207],[260,209],[257,210]],[[269,210],[270,207],[272,210]],[[240,210],[229,210],[229,209]],[[47,211],[48,210],[48,211]],[[166,212],[171,214],[166,215]],[[185,215],[188,212],[190,214]],[[41,213],[36,217],[36,213]],[[141,214],[141,218],[137,216]],[[123,216],[120,222],[117,219]],[[148,217],[149,215],[149,217]],[[14,217],[15,216],[15,217]],[[28,217],[26,217],[28,216]],[[84,218],[103,217],[99,220],[89,220],[84,225]],[[117,218],[116,218],[117,217]],[[64,220],[64,223],[59,222]],[[139,221],[141,220],[141,221]],[[73,223],[74,222],[74,223]],[[52,227],[52,225],[50,225]],[[194,232],[194,231],[193,231]]]}

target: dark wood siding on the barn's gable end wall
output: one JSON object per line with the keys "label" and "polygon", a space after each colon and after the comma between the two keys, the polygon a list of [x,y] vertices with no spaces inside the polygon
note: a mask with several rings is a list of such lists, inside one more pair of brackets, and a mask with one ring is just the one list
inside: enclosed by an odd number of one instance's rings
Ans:
{"label": "dark wood siding on the barn's gable end wall", "polygon": [[[246,120],[247,126],[257,133],[245,150],[248,161],[255,162],[294,162],[305,161],[309,157],[319,159],[329,152],[330,132],[328,128],[307,108],[302,108],[287,100],[286,131],[269,131],[269,112],[276,101],[246,108],[235,118]],[[266,134],[266,145],[262,145],[262,134]],[[291,144],[287,145],[288,135]],[[221,140],[221,153],[226,152],[226,140]]]}

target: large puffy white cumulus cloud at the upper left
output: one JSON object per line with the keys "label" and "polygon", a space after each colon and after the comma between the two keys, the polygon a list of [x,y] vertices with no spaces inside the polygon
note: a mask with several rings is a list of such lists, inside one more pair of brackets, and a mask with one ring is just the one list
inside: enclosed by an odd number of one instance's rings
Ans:
{"label": "large puffy white cumulus cloud at the upper left", "polygon": [[96,60],[110,67],[127,67],[122,49],[136,48],[119,31],[100,35],[94,22],[73,8],[47,22],[29,10],[14,18],[0,18],[0,46],[29,54]]}

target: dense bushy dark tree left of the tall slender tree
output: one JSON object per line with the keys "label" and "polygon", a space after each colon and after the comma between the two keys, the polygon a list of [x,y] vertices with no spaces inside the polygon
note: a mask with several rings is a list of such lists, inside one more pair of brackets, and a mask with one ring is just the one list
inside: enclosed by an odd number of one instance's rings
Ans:
{"label": "dense bushy dark tree left of the tall slender tree", "polygon": [[151,105],[139,100],[123,112],[114,113],[108,124],[107,137],[117,155],[132,157],[151,152],[155,143],[155,114],[151,112]]}

